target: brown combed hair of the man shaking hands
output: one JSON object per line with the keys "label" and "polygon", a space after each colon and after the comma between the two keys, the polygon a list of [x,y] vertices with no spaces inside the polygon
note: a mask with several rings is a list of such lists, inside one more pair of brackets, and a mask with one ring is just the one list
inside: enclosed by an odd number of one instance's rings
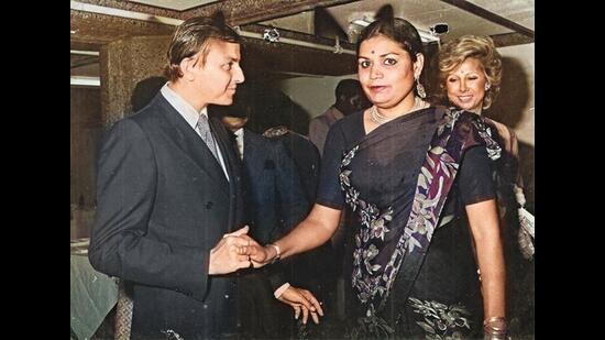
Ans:
{"label": "brown combed hair of the man shaking hands", "polygon": [[222,12],[212,17],[195,17],[185,20],[174,32],[168,46],[166,76],[174,81],[183,76],[179,64],[184,58],[202,52],[202,65],[208,55],[210,40],[241,44],[240,35],[224,22]]}

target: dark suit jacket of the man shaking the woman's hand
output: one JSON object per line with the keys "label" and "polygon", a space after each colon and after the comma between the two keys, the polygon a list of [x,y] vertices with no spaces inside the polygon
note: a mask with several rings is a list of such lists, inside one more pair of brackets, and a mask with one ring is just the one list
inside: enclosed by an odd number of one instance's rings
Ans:
{"label": "dark suit jacket of the man shaking the woman's hand", "polygon": [[133,287],[133,334],[173,330],[186,339],[235,332],[231,275],[209,276],[210,250],[240,227],[238,158],[223,125],[210,125],[220,164],[185,119],[158,94],[108,132],[98,158],[92,266]]}

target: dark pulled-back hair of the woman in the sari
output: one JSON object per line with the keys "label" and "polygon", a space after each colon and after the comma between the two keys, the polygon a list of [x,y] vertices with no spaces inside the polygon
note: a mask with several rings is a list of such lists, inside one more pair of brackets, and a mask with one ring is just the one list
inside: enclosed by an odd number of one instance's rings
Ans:
{"label": "dark pulled-back hair of the woman in the sari", "polygon": [[358,42],[358,56],[360,54],[361,43],[364,41],[384,35],[398,43],[402,48],[407,51],[413,62],[416,62],[416,54],[422,52],[422,41],[416,28],[405,19],[393,17],[393,7],[384,6],[376,13],[376,21],[367,25],[360,34]]}

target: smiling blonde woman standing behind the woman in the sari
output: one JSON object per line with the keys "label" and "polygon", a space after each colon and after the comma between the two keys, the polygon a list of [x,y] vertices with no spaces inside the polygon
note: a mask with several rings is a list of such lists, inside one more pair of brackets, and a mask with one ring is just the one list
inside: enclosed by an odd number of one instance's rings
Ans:
{"label": "smiling blonde woman standing behind the woman in the sari", "polygon": [[[449,105],[476,114],[496,100],[501,90],[502,58],[488,36],[464,35],[441,46],[438,55],[441,97]],[[485,118],[493,135],[505,151],[496,162],[496,193],[504,230],[508,267],[508,296],[513,330],[520,331],[530,319],[528,299],[531,263],[520,257],[534,256],[534,216],[525,210],[525,195],[519,172],[519,149],[515,132],[507,125]],[[529,278],[530,279],[530,278]],[[527,315],[524,316],[524,314]],[[522,331],[521,331],[522,332]]]}

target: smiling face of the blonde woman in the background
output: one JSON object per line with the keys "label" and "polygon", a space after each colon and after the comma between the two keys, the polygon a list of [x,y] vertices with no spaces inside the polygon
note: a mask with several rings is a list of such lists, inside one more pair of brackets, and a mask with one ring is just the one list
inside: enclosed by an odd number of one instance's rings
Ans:
{"label": "smiling face of the blonde woman in the background", "polygon": [[476,58],[469,57],[446,78],[448,99],[457,107],[480,113],[488,87],[483,66]]}

